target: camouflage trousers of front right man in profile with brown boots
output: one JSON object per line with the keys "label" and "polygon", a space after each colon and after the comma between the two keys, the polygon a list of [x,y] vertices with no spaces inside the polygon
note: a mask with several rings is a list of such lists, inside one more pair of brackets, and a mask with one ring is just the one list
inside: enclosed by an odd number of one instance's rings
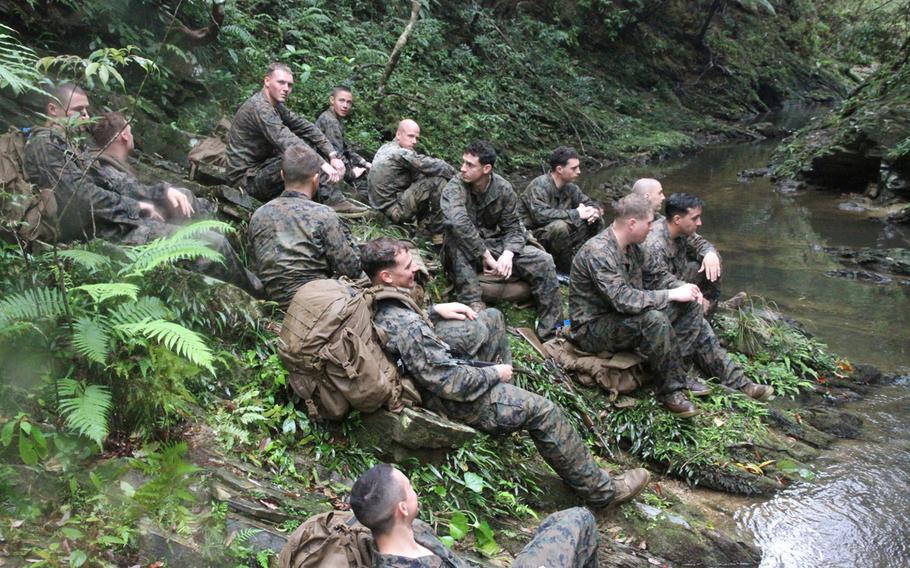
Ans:
{"label": "camouflage trousers of front right man in profile with brown boots", "polygon": [[591,353],[637,349],[648,360],[662,397],[685,388],[686,359],[728,387],[740,388],[748,382],[720,346],[697,302],[673,302],[665,310],[598,318],[574,329],[572,338]]}

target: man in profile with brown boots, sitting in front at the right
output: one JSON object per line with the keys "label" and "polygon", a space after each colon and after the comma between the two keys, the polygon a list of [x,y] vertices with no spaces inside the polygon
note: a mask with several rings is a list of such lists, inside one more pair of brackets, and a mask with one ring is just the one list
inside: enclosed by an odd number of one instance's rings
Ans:
{"label": "man in profile with brown boots, sitting in front at the right", "polygon": [[627,195],[617,202],[613,223],[575,255],[569,283],[573,341],[591,353],[638,349],[657,381],[659,399],[682,417],[697,413],[686,388],[696,395],[710,392],[706,385],[687,380],[686,357],[726,386],[767,400],[771,387],[747,379],[718,344],[703,316],[698,286],[645,288],[641,243],[653,218],[647,199]]}

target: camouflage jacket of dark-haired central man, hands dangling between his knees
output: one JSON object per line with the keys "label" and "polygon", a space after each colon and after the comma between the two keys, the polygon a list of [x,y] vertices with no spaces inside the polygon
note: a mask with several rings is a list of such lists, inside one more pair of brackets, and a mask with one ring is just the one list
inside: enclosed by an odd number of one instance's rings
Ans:
{"label": "camouflage jacket of dark-haired central man, hands dangling between his knees", "polygon": [[461,175],[453,177],[442,190],[439,207],[447,237],[454,238],[473,258],[483,258],[487,249],[518,253],[527,243],[518,215],[518,196],[512,184],[497,173],[482,193],[471,191]]}

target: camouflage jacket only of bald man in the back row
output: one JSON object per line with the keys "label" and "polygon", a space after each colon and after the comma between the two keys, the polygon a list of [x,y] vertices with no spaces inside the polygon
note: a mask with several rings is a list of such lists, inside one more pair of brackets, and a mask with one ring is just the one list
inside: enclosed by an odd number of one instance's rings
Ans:
{"label": "camouflage jacket only of bald man in the back row", "polygon": [[455,168],[439,158],[418,154],[392,140],[383,144],[373,156],[373,167],[367,176],[370,205],[385,210],[394,205],[398,194],[423,177],[451,177]]}

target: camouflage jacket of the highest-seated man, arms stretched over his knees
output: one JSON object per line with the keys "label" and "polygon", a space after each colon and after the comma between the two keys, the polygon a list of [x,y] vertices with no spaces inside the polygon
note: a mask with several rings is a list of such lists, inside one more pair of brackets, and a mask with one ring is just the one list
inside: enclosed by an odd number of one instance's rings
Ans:
{"label": "camouflage jacket of the highest-seated man, arms stretched over his knees", "polygon": [[265,160],[301,143],[326,159],[335,151],[316,125],[283,104],[272,106],[265,94],[257,91],[240,105],[231,122],[225,151],[228,178],[237,184]]}

